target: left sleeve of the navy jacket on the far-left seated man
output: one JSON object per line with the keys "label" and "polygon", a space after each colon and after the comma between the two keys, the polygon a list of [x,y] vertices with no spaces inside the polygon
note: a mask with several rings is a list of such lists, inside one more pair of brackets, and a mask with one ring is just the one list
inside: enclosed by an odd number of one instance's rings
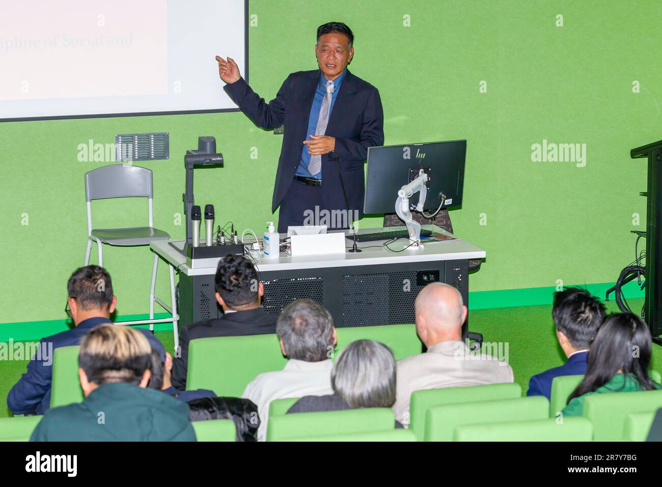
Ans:
{"label": "left sleeve of the navy jacket on the far-left seated man", "polygon": [[[44,342],[39,344],[42,350],[46,350],[45,346]],[[42,360],[36,360],[36,357],[33,357],[28,363],[27,372],[9,391],[7,407],[14,414],[32,411],[46,396],[51,382],[52,364],[46,365]]]}

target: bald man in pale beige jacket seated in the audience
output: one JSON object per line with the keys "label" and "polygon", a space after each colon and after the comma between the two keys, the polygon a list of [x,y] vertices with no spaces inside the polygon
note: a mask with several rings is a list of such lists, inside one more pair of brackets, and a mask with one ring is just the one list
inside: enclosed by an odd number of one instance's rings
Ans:
{"label": "bald man in pale beige jacket seated in the audience", "polygon": [[456,288],[441,282],[428,284],[416,296],[414,312],[416,333],[428,351],[397,362],[393,405],[397,421],[408,425],[414,391],[513,382],[507,362],[482,352],[472,353],[462,341],[467,307]]}

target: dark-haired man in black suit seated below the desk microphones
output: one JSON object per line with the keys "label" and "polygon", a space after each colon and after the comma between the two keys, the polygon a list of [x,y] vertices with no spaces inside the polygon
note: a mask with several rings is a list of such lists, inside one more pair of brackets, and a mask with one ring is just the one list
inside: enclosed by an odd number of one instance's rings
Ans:
{"label": "dark-haired man in black suit seated below the desk microphones", "polygon": [[[191,340],[276,332],[278,313],[265,313],[260,307],[264,287],[248,258],[234,254],[222,258],[218,262],[214,283],[216,301],[223,308],[224,315],[219,319],[198,321],[179,331],[180,348],[175,352],[170,379],[177,390],[186,389]],[[219,370],[218,373],[228,373],[228,370]]]}

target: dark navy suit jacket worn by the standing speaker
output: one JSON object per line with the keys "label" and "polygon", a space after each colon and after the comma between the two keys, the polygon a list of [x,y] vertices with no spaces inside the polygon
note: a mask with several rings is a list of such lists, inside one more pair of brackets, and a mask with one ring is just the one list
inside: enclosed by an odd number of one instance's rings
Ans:
{"label": "dark navy suit jacket worn by the standing speaker", "polygon": [[[297,172],[303,141],[309,138],[310,107],[320,76],[320,70],[292,73],[268,104],[244,78],[223,88],[258,127],[270,130],[285,124],[271,211],[281,204]],[[367,158],[367,148],[384,144],[384,114],[377,88],[346,70],[326,135],[336,138],[336,147],[333,152],[322,155],[324,206],[326,209],[347,207],[340,184],[340,169],[350,209],[363,215],[363,162]]]}

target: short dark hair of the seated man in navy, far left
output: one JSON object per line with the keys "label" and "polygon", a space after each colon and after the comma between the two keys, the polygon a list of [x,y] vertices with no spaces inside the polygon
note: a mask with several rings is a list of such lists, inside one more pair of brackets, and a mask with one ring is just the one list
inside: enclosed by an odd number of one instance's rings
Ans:
{"label": "short dark hair of the seated man in navy, far left", "polygon": [[113,282],[100,266],[79,267],[67,283],[67,294],[81,309],[109,309],[113,303]]}

